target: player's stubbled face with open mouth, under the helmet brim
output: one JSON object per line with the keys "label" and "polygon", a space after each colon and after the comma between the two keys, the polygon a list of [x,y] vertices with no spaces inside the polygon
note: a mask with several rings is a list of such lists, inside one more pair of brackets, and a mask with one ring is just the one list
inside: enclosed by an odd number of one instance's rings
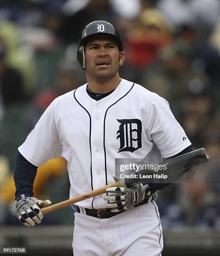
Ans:
{"label": "player's stubbled face with open mouth, under the helmet brim", "polygon": [[95,36],[84,47],[86,73],[94,80],[108,80],[118,73],[125,53],[110,36]]}

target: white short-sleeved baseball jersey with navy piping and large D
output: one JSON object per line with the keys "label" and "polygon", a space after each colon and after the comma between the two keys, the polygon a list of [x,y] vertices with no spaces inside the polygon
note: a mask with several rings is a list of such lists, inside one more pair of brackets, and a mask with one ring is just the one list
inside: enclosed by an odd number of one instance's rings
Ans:
{"label": "white short-sleeved baseball jersey with navy piping and large D", "polygon": [[[87,84],[56,98],[18,148],[41,166],[62,156],[68,161],[70,198],[114,182],[115,158],[153,157],[160,162],[191,145],[169,104],[141,85],[122,79],[96,101]],[[76,205],[104,208],[103,196]]]}

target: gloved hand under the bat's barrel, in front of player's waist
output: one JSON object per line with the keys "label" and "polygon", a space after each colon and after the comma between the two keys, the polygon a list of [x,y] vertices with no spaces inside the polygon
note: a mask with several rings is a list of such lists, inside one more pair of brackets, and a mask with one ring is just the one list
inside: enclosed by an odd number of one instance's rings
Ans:
{"label": "gloved hand under the bat's barrel, in front of player's waist", "polygon": [[112,201],[107,202],[105,207],[110,208],[111,212],[120,212],[129,210],[135,205],[138,205],[147,197],[151,196],[148,185],[133,184],[131,187],[109,187],[106,189],[108,193],[113,195],[105,195],[104,200]]}

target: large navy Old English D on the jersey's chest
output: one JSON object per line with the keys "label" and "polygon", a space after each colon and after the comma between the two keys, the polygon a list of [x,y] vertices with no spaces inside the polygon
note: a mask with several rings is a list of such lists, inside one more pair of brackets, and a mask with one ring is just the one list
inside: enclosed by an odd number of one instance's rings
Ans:
{"label": "large navy Old English D on the jersey's chest", "polygon": [[142,147],[141,132],[142,123],[139,119],[117,119],[120,123],[117,131],[117,139],[120,139],[119,152],[130,151],[134,152]]}

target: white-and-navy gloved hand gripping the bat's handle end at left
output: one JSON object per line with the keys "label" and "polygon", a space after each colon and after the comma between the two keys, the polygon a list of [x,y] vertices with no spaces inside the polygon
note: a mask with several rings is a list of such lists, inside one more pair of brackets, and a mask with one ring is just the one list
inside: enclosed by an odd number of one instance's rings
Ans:
{"label": "white-and-navy gloved hand gripping the bat's handle end at left", "polygon": [[30,227],[41,223],[43,213],[41,208],[51,205],[50,200],[38,200],[35,197],[18,196],[15,200],[15,212],[21,223]]}

